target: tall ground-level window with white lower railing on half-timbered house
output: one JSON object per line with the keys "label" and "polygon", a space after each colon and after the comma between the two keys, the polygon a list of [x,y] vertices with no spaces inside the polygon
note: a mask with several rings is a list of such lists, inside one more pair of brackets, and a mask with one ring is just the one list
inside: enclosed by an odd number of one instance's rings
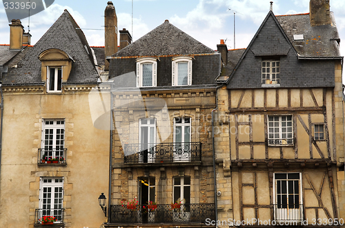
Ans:
{"label": "tall ground-level window with white lower railing on half-timbered house", "polygon": [[302,173],[275,173],[275,220],[302,220]]}

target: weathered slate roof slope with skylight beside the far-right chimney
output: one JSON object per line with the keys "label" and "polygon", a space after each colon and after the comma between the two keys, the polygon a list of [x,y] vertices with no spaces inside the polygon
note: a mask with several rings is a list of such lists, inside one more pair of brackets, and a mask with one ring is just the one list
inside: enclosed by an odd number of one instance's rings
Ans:
{"label": "weathered slate roof slope with skylight beside the far-right chimney", "polygon": [[[335,18],[331,12],[331,25],[311,26],[309,14],[276,16],[288,39],[300,57],[340,57],[340,41]],[[303,35],[295,41],[293,35]]]}

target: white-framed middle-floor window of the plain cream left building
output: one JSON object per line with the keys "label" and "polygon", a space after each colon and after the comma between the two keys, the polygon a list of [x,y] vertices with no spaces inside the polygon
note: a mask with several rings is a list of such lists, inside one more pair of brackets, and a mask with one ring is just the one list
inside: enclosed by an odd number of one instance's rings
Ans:
{"label": "white-framed middle-floor window of the plain cream left building", "polygon": [[65,120],[42,120],[42,158],[46,161],[52,159],[63,160],[63,147],[65,144]]}

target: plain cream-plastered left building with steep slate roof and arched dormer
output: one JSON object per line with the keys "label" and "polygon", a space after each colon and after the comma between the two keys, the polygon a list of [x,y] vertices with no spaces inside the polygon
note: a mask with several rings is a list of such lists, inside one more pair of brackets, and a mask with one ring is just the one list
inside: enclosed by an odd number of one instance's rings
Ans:
{"label": "plain cream-plastered left building with steep slate roof and arched dormer", "polygon": [[[10,29],[20,40],[20,21]],[[92,122],[99,75],[83,32],[65,10],[34,46],[1,48],[0,226],[40,227],[52,216],[52,227],[99,227],[110,134]]]}

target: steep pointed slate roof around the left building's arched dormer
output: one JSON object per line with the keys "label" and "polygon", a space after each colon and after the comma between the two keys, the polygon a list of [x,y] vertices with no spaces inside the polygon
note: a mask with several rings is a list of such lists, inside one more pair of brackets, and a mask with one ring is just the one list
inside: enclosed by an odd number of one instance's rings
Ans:
{"label": "steep pointed slate roof around the left building's arched dormer", "polygon": [[40,53],[50,48],[63,50],[75,60],[66,84],[97,82],[98,75],[88,41],[70,13],[65,10],[37,44],[28,50],[17,64],[17,68],[10,68],[8,74],[3,76],[3,84],[42,83],[41,61],[38,57]]}

